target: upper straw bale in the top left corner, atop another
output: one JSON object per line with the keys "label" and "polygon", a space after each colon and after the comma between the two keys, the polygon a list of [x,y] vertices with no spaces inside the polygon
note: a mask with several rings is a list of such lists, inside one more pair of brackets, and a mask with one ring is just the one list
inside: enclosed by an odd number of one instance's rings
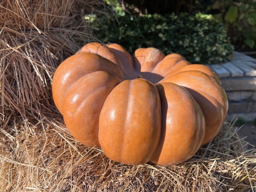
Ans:
{"label": "upper straw bale in the top left corner, atop another", "polygon": [[[0,2],[0,28],[13,30],[83,28],[84,13],[97,12],[100,0],[4,0]],[[84,29],[82,29],[84,31]]]}

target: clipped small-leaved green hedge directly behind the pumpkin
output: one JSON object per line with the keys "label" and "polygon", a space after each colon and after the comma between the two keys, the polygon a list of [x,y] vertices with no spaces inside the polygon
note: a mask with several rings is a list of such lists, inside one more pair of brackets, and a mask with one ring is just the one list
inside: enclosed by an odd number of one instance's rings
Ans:
{"label": "clipped small-leaved green hedge directly behind the pumpkin", "polygon": [[140,47],[155,47],[164,54],[178,53],[191,63],[228,61],[233,46],[225,27],[211,15],[123,15],[94,19],[91,25],[102,43],[115,42],[131,54]]}

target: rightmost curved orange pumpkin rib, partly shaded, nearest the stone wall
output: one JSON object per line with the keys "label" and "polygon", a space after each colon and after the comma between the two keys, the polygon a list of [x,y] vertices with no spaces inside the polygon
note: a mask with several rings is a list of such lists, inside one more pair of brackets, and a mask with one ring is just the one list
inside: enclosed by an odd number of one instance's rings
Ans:
{"label": "rightmost curved orange pumpkin rib, partly shaded, nearest the stone wall", "polygon": [[227,95],[218,81],[201,71],[191,70],[177,72],[160,82],[175,83],[189,91],[199,103],[206,121],[202,145],[211,141],[220,131],[228,110]]}

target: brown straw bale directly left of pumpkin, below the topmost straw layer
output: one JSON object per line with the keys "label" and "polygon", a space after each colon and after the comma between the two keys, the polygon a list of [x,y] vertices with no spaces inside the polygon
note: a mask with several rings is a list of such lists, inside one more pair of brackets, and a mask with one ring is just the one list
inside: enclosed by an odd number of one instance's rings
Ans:
{"label": "brown straw bale directly left of pumpkin, below the topmost straw layer", "polygon": [[[65,38],[65,39],[64,39]],[[68,34],[37,31],[29,34],[3,27],[0,33],[0,97],[2,121],[15,116],[50,112],[51,81],[63,58],[76,49]],[[68,44],[63,44],[63,39]],[[63,47],[65,51],[63,51]],[[48,109],[48,110],[47,110]],[[45,115],[45,114],[44,114]]]}

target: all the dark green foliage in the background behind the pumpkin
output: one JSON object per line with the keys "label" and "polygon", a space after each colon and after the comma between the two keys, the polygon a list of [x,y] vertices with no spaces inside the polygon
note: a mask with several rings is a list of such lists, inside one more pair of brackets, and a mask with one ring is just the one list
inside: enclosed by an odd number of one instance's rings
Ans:
{"label": "all the dark green foliage in the background behind the pumpkin", "polygon": [[[105,0],[114,10],[90,18],[102,43],[178,53],[191,63],[223,63],[256,49],[256,0]],[[113,14],[114,13],[114,14]]]}

